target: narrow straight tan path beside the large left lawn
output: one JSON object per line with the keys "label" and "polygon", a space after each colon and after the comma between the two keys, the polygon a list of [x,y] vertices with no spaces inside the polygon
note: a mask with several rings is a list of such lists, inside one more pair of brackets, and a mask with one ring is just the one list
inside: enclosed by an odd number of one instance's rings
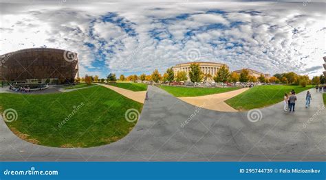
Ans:
{"label": "narrow straight tan path beside the large left lawn", "polygon": [[118,92],[124,97],[127,97],[133,101],[137,101],[138,103],[144,103],[145,97],[146,97],[146,91],[132,91],[132,90],[126,90],[124,88],[118,88],[116,86],[110,86],[107,84],[98,83],[100,86],[104,86],[105,88],[109,88],[111,90],[114,90],[115,92]]}

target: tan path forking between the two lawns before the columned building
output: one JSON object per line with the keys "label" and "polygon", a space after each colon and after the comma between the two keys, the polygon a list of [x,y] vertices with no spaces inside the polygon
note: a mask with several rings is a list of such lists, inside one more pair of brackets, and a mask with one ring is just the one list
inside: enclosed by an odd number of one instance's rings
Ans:
{"label": "tan path forking between the two lawns before the columned building", "polygon": [[239,90],[233,90],[230,92],[224,92],[219,94],[210,94],[201,97],[180,97],[182,101],[195,105],[197,107],[203,107],[208,110],[215,110],[219,112],[238,112],[233,107],[230,107],[224,101],[236,97],[238,94],[245,92],[249,88],[241,88]]}

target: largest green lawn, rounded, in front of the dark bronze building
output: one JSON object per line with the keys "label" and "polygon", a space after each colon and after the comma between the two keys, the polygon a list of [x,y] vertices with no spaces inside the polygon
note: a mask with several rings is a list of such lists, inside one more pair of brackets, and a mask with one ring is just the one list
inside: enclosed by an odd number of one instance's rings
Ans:
{"label": "largest green lawn, rounded, in front of the dark bronze building", "polygon": [[[142,104],[102,86],[56,94],[0,93],[0,112],[12,108],[18,118],[8,127],[20,138],[45,146],[90,147],[116,142],[135,126],[127,110]],[[66,123],[63,121],[66,120]]]}

